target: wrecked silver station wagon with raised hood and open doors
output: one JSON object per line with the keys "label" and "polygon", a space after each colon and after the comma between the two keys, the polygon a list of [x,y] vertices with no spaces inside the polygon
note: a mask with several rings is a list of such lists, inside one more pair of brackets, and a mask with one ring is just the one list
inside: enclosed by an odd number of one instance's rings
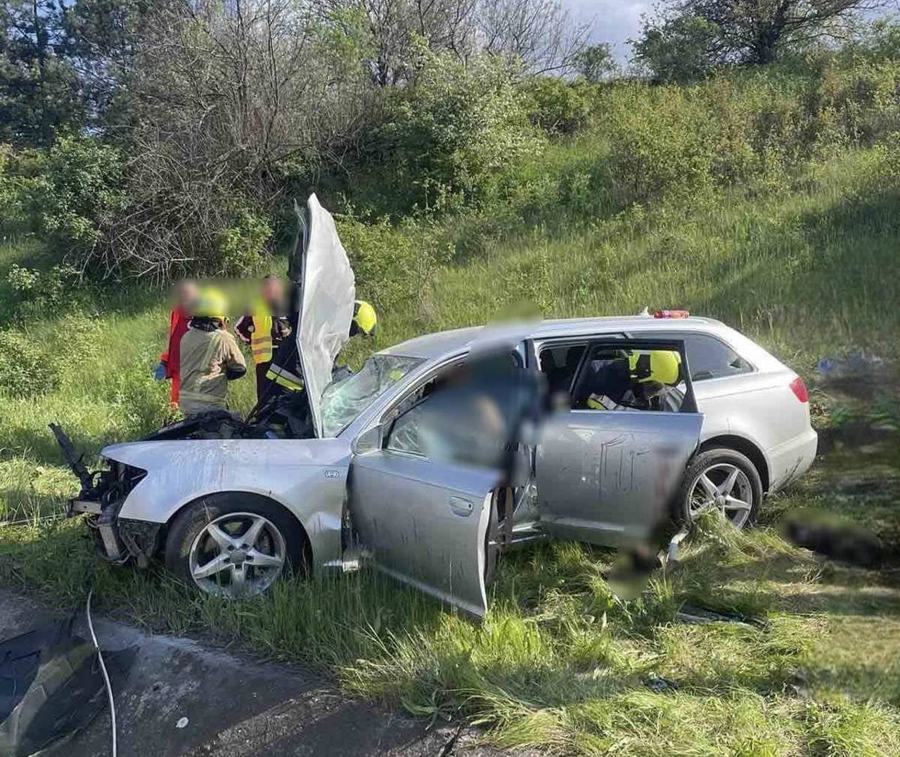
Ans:
{"label": "wrecked silver station wagon with raised hood and open doors", "polygon": [[[201,590],[227,595],[264,591],[289,566],[365,562],[482,616],[502,549],[547,537],[628,545],[671,509],[689,520],[716,508],[743,527],[767,493],[813,462],[801,379],[705,318],[444,331],[378,352],[328,383],[347,340],[354,279],[315,196],[304,230],[297,339],[315,437],[160,434],[106,447],[108,469],[81,471],[70,512],[90,519],[107,559],[161,558]],[[449,428],[435,387],[473,351],[497,344],[563,398],[610,353],[665,347],[688,370],[671,387],[677,401],[654,409],[557,404],[518,450],[520,480],[501,486],[491,465],[431,454]]]}

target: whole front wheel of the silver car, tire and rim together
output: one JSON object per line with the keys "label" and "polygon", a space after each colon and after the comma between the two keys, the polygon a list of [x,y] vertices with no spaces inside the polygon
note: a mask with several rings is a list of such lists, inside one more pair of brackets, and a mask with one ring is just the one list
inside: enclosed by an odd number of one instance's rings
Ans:
{"label": "whole front wheel of the silver car, tire and rim together", "polygon": [[184,508],[166,537],[166,567],[209,594],[261,594],[302,564],[299,524],[265,497],[226,492]]}

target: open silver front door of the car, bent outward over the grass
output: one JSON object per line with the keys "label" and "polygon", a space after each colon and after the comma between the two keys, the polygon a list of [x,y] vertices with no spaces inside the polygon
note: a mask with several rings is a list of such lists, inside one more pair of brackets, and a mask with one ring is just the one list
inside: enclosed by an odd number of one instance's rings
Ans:
{"label": "open silver front door of the car, bent outward over the grass", "polygon": [[500,473],[455,459],[446,448],[453,440],[436,433],[448,410],[433,394],[394,419],[377,448],[354,456],[350,515],[379,570],[483,617]]}

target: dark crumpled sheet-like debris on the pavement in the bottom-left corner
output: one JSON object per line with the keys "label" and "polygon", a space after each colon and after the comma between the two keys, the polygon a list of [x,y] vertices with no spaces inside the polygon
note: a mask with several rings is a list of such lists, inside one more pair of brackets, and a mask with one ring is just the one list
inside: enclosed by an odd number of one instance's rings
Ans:
{"label": "dark crumpled sheet-like debris on the pavement in the bottom-left corner", "polygon": [[[103,709],[94,644],[73,634],[75,617],[0,642],[0,754],[24,757],[89,725]],[[124,672],[130,651],[104,654]],[[112,658],[112,659],[111,659]]]}

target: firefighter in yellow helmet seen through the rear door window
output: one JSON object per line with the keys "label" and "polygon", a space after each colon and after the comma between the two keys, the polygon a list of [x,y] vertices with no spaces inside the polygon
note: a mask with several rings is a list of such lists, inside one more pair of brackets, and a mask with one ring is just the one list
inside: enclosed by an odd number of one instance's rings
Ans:
{"label": "firefighter in yellow helmet seen through the rear door window", "polygon": [[682,380],[681,356],[673,350],[632,350],[624,356],[590,360],[572,392],[572,407],[663,410],[667,389]]}

